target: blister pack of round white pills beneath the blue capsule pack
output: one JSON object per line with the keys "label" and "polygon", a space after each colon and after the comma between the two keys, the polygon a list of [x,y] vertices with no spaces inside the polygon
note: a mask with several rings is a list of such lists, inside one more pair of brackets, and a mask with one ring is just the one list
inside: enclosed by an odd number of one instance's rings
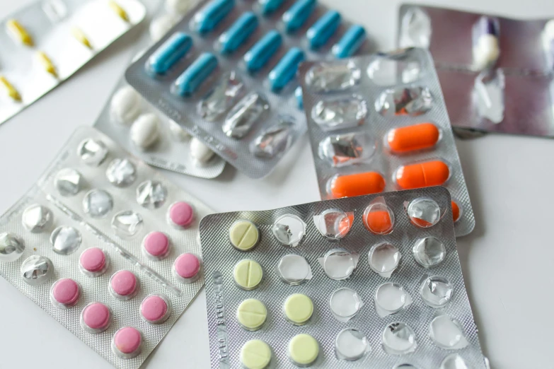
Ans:
{"label": "blister pack of round white pills beneath the blue capsule pack", "polygon": [[[139,56],[177,23],[180,15],[175,13],[175,6],[181,10],[192,6],[188,0],[165,3],[150,0],[144,5],[149,23],[148,32],[144,32],[135,47]],[[159,168],[214,178],[225,167],[223,159],[198,139],[191,139],[187,131],[146,102],[123,77],[95,125],[134,156]]]}

